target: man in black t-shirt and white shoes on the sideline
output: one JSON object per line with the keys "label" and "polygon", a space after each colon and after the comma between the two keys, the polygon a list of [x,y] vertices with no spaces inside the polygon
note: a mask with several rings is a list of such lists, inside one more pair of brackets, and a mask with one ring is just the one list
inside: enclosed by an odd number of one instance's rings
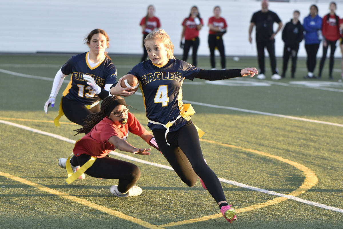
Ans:
{"label": "man in black t-shirt and white shoes on the sideline", "polygon": [[[262,10],[255,12],[252,15],[249,27],[249,42],[252,42],[251,32],[252,28],[256,25],[256,46],[258,63],[260,67],[260,74],[258,79],[265,79],[264,71],[264,48],[267,48],[270,58],[270,66],[272,68],[272,80],[280,80],[281,76],[276,71],[276,58],[275,58],[275,35],[281,30],[282,22],[273,11],[268,10],[268,0],[262,0]],[[276,32],[273,31],[273,24],[279,24]]]}

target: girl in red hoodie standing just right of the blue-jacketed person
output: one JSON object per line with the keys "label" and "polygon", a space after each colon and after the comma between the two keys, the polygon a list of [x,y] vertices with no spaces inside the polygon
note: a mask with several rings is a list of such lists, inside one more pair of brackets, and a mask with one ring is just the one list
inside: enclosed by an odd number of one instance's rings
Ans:
{"label": "girl in red hoodie standing just right of the blue-jacketed person", "polygon": [[322,33],[323,33],[323,56],[319,64],[318,78],[320,79],[326,54],[330,46],[330,63],[329,63],[329,79],[332,80],[332,69],[334,63],[334,53],[336,50],[337,40],[340,38],[340,18],[335,14],[336,3],[331,2],[329,5],[330,13],[323,17]]}

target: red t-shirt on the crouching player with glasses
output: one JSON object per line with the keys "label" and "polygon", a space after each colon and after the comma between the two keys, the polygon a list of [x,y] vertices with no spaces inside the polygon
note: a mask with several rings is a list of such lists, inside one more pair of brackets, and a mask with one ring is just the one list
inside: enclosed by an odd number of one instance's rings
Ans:
{"label": "red t-shirt on the crouching player with glasses", "polygon": [[118,128],[111,119],[104,117],[92,130],[76,141],[73,153],[75,156],[87,154],[96,158],[105,157],[111,150],[115,150],[116,146],[110,144],[108,139],[112,136],[118,136],[126,140],[129,131],[135,135],[142,135],[146,129],[137,118],[128,113],[128,122]]}

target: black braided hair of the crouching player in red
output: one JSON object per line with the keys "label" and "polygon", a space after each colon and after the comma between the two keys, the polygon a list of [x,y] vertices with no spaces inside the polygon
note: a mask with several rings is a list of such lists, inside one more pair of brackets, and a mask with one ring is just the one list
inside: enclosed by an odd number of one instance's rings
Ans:
{"label": "black braided hair of the crouching player in red", "polygon": [[75,129],[77,133],[74,135],[82,134],[82,133],[88,133],[91,131],[91,129],[98,124],[101,120],[103,120],[104,117],[106,117],[106,114],[108,114],[109,104],[112,101],[123,99],[119,95],[112,95],[108,96],[104,101],[101,103],[100,111],[97,113],[89,114],[85,118],[85,125],[80,129]]}

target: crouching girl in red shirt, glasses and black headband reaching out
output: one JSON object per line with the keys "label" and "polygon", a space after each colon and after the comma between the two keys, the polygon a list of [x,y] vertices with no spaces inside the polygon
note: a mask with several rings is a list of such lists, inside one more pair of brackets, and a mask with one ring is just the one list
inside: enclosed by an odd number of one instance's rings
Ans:
{"label": "crouching girl in red shirt, glasses and black headband reaching out", "polygon": [[[140,136],[148,144],[153,141],[150,134],[139,123],[132,113],[129,113],[125,100],[118,95],[107,97],[101,104],[100,112],[88,115],[85,125],[77,129],[77,134],[87,133],[76,141],[73,157],[70,159],[72,168],[84,165],[91,157],[96,160],[85,173],[96,178],[119,179],[118,185],[110,188],[110,193],[118,197],[137,196],[142,189],[134,186],[140,177],[137,165],[130,162],[108,157],[111,150],[132,152],[133,154],[149,155],[150,149],[136,148],[126,139],[129,132]],[[66,168],[67,159],[60,158],[59,165]]]}

